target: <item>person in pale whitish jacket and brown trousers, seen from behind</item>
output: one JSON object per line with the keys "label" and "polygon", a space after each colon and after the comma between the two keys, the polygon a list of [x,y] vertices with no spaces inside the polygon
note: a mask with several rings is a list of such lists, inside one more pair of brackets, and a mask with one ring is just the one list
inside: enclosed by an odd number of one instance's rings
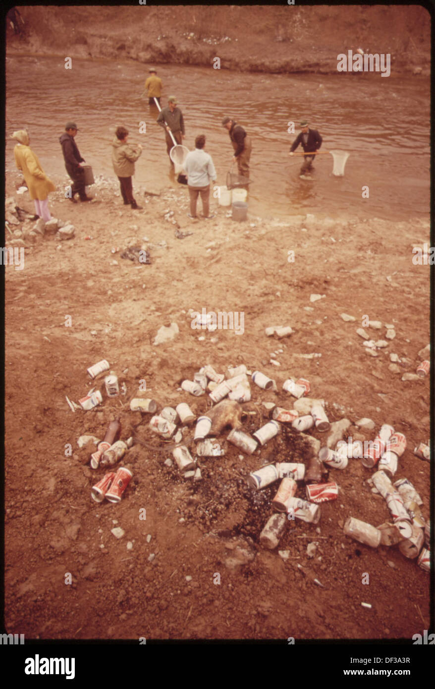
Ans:
{"label": "person in pale whitish jacket and brown trousers, seen from behind", "polygon": [[216,171],[211,156],[204,151],[205,136],[200,134],[195,138],[195,150],[190,151],[184,162],[184,170],[187,172],[187,185],[190,196],[189,218],[196,218],[196,202],[201,194],[202,214],[206,220],[211,220],[214,215],[210,212],[210,181],[216,181]]}

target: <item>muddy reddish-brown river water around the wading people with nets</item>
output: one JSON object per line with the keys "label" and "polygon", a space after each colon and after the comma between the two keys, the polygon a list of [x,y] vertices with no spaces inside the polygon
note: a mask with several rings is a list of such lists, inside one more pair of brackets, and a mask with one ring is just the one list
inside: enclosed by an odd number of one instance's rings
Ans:
{"label": "muddy reddish-brown river water around the wading people with nets", "polygon": [[[206,135],[217,184],[226,183],[233,154],[222,117],[233,116],[251,135],[250,214],[400,220],[429,213],[429,78],[157,67],[164,84],[162,105],[169,95],[177,96],[187,147],[194,147],[197,134]],[[81,130],[76,143],[94,176],[114,176],[111,141],[123,124],[129,141],[143,146],[134,185],[178,186],[169,173],[164,133],[156,125],[158,111],[142,95],[147,65],[73,59],[72,69],[65,70],[60,57],[11,55],[6,76],[7,169],[14,169],[14,142],[8,136],[27,127],[45,172],[55,178],[66,174],[59,136],[72,120]],[[301,118],[323,136],[322,150],[350,152],[343,177],[332,175],[332,156],[326,154],[318,156],[313,181],[299,178],[303,158],[290,158],[288,150]],[[295,134],[288,133],[290,121]],[[141,122],[145,134],[139,133]],[[363,198],[365,186],[368,198]]]}

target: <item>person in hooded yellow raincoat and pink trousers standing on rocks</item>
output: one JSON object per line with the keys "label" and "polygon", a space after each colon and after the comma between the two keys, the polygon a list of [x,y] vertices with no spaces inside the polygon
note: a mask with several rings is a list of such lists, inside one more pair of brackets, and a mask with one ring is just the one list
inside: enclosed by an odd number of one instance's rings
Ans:
{"label": "person in hooded yellow raincoat and pink trousers standing on rocks", "polygon": [[14,147],[15,164],[23,172],[30,198],[34,200],[36,214],[47,222],[52,217],[48,209],[48,194],[54,192],[56,187],[43,171],[38,156],[30,148],[28,132],[14,132],[10,138],[19,142]]}

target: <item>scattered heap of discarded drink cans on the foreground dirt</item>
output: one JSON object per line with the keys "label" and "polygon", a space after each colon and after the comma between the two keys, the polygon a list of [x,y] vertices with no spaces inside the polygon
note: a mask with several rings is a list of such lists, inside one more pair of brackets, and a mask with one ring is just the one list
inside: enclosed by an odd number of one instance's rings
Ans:
{"label": "scattered heap of discarded drink cans on the foreground dirt", "polygon": [[[95,378],[108,370],[109,362],[103,360],[88,369],[88,373],[91,378]],[[187,391],[195,397],[204,395],[208,391],[209,398],[214,403],[208,415],[201,415],[196,420],[193,446],[198,457],[224,455],[224,449],[219,440],[210,436],[213,436],[213,433],[216,435],[229,425],[231,432],[226,439],[248,455],[252,455],[274,438],[281,431],[280,424],[291,424],[297,432],[308,431],[312,428],[323,433],[330,430],[323,400],[319,400],[319,404],[314,404],[309,414],[302,416],[299,416],[296,409],[284,409],[271,404],[272,418],[266,424],[252,435],[240,430],[241,411],[239,410],[242,408],[239,405],[251,400],[248,376],[251,376],[251,380],[258,387],[277,392],[275,380],[268,378],[260,371],[249,372],[244,364],[236,368],[229,367],[226,373],[217,373],[211,365],[207,364],[194,374],[193,380],[182,382],[180,391]],[[108,397],[114,397],[120,393],[114,371],[105,377],[105,388]],[[299,378],[299,380],[288,378],[284,381],[282,389],[295,398],[301,398],[310,391],[310,383],[304,378]],[[100,404],[103,399],[101,393],[99,391],[98,393],[98,396],[92,400],[93,406]],[[83,400],[80,402],[82,403]],[[183,444],[182,430],[177,428],[178,423],[191,424],[195,420],[195,414],[189,404],[180,402],[175,409],[164,407],[156,415],[156,400],[134,398],[130,401],[130,409],[140,411],[142,414],[152,414],[149,429],[165,440],[175,441],[176,446],[173,447],[172,455],[178,468],[184,471],[185,477],[200,480],[200,469],[196,464],[196,458],[193,458],[187,445]],[[239,412],[238,415],[237,412]],[[217,423],[217,420],[220,422]],[[98,466],[114,466],[127,453],[133,444],[133,438],[125,441],[117,440],[119,433],[120,422],[115,420],[109,424],[103,441],[94,438],[97,449],[90,457],[93,469],[98,469]],[[79,439],[79,444],[83,446],[85,439],[90,437],[83,436]],[[281,480],[272,501],[275,513],[268,519],[259,535],[259,542],[265,548],[276,548],[279,539],[284,535],[288,520],[297,519],[317,524],[321,516],[319,504],[336,500],[338,495],[337,483],[325,482],[323,477],[330,469],[346,469],[350,458],[359,458],[363,466],[368,469],[373,469],[379,462],[377,471],[369,482],[373,486],[372,491],[379,492],[385,499],[392,522],[385,522],[375,528],[354,517],[349,517],[344,525],[344,533],[374,548],[380,544],[384,546],[399,544],[399,549],[405,557],[410,559],[418,557],[418,565],[428,572],[430,525],[421,514],[421,498],[407,479],[400,479],[394,485],[391,481],[396,474],[399,457],[403,455],[405,447],[405,435],[394,431],[389,424],[383,424],[376,438],[365,442],[364,446],[361,441],[339,440],[335,450],[325,446],[321,447],[318,453],[312,452],[307,466],[302,462],[277,462],[253,471],[248,475],[247,483],[255,491]],[[97,502],[105,498],[109,502],[119,502],[130,479],[131,471],[128,469],[121,468],[116,473],[110,471],[92,487],[92,497]],[[296,497],[298,482],[304,482],[307,500]],[[424,543],[427,547],[423,547]]]}

